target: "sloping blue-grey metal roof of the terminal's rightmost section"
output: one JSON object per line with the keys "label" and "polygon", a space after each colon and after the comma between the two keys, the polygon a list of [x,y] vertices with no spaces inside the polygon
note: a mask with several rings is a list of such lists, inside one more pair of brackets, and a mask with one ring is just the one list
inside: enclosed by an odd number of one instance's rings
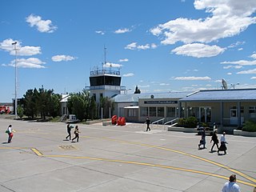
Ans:
{"label": "sloping blue-grey metal roof of the terminal's rightmost section", "polygon": [[256,101],[256,89],[200,90],[180,99],[180,102],[195,101]]}

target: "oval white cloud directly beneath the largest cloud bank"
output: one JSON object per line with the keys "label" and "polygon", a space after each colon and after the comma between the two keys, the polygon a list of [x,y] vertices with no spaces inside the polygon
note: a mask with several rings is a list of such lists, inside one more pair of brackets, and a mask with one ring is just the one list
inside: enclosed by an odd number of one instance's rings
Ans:
{"label": "oval white cloud directly beneath the largest cloud bank", "polygon": [[175,54],[182,54],[191,56],[194,58],[210,58],[218,54],[222,54],[224,48],[219,46],[207,46],[201,43],[186,44],[184,46],[178,46],[171,52]]}

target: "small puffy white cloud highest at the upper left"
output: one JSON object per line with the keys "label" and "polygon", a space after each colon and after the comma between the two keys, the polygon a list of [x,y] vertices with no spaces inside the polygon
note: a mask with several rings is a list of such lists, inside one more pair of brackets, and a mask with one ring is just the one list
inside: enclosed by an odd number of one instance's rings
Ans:
{"label": "small puffy white cloud highest at the upper left", "polygon": [[40,16],[30,14],[26,18],[26,22],[30,23],[30,26],[36,26],[38,31],[42,33],[53,33],[57,30],[57,26],[53,26],[50,20],[42,20]]}

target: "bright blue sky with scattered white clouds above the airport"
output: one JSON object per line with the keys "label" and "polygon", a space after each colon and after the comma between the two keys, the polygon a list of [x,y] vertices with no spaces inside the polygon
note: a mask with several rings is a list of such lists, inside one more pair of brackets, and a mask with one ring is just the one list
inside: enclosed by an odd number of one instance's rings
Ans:
{"label": "bright blue sky with scattered white clouds above the airport", "polygon": [[222,79],[228,89],[256,88],[255,0],[1,0],[0,7],[0,102],[12,102],[15,87],[18,98],[42,86],[82,92],[104,50],[105,67],[120,70],[128,94],[136,86],[222,89]]}

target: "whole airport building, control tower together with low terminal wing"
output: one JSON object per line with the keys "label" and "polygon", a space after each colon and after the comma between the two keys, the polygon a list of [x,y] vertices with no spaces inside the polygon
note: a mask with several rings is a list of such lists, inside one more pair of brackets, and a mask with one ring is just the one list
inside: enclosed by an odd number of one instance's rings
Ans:
{"label": "whole airport building, control tower together with low terminal wing", "polygon": [[[247,120],[256,122],[256,89],[127,94],[121,80],[120,70],[97,67],[90,71],[90,86],[86,90],[97,103],[101,98],[113,99],[110,117],[125,117],[126,122],[145,122],[147,117],[151,122],[170,122],[190,116],[198,118],[198,122],[216,122],[221,126],[241,126]],[[62,114],[66,114],[65,107],[66,100],[62,99]]]}

